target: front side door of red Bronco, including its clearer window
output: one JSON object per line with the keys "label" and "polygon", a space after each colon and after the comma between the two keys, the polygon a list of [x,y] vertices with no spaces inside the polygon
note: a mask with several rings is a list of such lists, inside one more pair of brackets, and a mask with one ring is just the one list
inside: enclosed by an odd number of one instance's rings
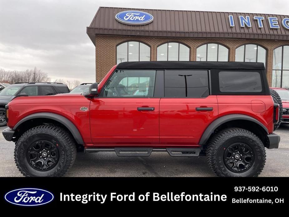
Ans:
{"label": "front side door of red Bronco, including its clearer window", "polygon": [[156,70],[116,70],[90,104],[95,145],[159,144]]}

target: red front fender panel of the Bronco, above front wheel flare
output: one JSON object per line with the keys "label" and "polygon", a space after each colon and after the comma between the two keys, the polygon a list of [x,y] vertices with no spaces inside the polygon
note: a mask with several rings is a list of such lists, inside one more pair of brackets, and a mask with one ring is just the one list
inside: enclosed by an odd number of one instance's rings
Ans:
{"label": "red front fender panel of the Bronco, above front wheel flare", "polygon": [[80,110],[83,106],[89,108],[90,99],[82,95],[59,94],[19,97],[13,99],[8,105],[9,119],[7,126],[10,128],[13,128],[21,119],[30,114],[50,112],[70,120],[80,132],[84,143],[91,143],[89,110]]}

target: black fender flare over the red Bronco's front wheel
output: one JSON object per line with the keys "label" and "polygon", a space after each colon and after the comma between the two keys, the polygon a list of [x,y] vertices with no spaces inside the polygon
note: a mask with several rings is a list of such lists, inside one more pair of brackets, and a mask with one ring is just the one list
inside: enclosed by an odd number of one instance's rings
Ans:
{"label": "black fender flare over the red Bronco's front wheel", "polygon": [[36,119],[36,118],[46,118],[46,119],[52,119],[55,121],[58,121],[59,123],[63,124],[67,129],[70,131],[72,136],[74,137],[77,144],[84,144],[83,139],[81,137],[81,134],[79,133],[76,126],[67,118],[54,113],[49,112],[40,112],[35,114],[30,114],[26,116],[25,118],[21,119],[14,127],[13,130],[16,130],[22,123],[24,123],[27,120]]}

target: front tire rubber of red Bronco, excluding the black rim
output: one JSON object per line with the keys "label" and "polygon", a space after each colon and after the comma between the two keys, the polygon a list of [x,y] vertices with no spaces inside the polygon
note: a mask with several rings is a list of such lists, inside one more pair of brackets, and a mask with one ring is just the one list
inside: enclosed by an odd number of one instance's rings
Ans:
{"label": "front tire rubber of red Bronco, excluding the black rim", "polygon": [[[56,165],[47,170],[34,169],[27,159],[27,149],[35,141],[46,139],[57,144],[59,159]],[[50,139],[50,140],[48,140]],[[24,176],[62,176],[76,159],[74,138],[65,129],[55,125],[40,125],[27,130],[15,143],[14,159],[17,168]]]}

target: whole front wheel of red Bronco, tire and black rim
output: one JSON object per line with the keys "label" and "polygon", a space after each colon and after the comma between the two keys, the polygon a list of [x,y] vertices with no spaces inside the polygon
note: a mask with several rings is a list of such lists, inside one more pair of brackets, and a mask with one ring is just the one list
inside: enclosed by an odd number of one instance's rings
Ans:
{"label": "whole front wheel of red Bronco, tire and black rim", "polygon": [[15,144],[15,163],[24,176],[62,176],[75,158],[74,139],[55,125],[29,129]]}

